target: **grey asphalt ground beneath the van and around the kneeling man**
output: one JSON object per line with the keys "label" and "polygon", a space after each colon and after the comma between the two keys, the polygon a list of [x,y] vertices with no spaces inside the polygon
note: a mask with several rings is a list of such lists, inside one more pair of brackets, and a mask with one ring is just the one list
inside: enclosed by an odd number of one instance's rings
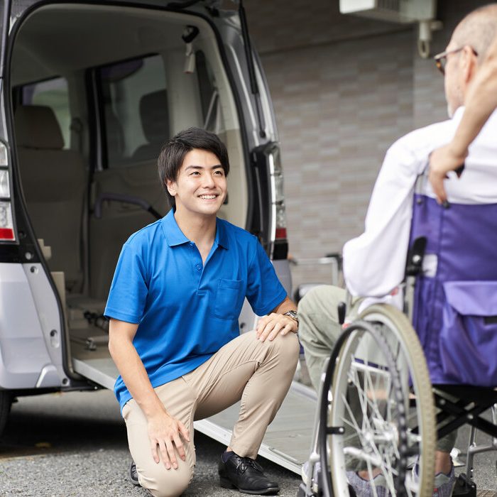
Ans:
{"label": "grey asphalt ground beneath the van and around the kneeling man", "polygon": [[[463,450],[468,430],[461,430]],[[482,436],[481,443],[488,443]],[[239,496],[220,488],[217,460],[224,447],[195,433],[197,467],[185,496]],[[497,453],[476,456],[479,497],[497,491]],[[0,437],[1,497],[147,496],[126,476],[131,457],[126,429],[113,393],[72,392],[20,398]],[[300,478],[265,459],[266,474],[280,483],[280,496],[295,497]],[[459,469],[460,471],[460,469]]]}

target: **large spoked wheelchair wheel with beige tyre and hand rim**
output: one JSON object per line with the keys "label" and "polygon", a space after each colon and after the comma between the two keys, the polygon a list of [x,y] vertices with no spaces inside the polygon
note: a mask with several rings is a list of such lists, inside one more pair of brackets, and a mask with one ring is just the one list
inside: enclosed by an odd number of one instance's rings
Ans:
{"label": "large spoked wheelchair wheel with beige tyre and hand rim", "polygon": [[[330,468],[325,495],[349,496],[349,480],[359,474],[370,481],[371,496],[432,496],[430,377],[402,313],[386,305],[364,311],[337,342],[323,391],[320,454],[322,467]],[[415,478],[410,466],[416,460]]]}

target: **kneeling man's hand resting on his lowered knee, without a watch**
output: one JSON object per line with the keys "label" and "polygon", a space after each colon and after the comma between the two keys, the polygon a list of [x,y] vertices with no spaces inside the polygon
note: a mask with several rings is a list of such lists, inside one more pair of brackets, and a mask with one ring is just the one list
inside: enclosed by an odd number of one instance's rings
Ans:
{"label": "kneeling man's hand resting on his lowered knee, without a watch", "polygon": [[[151,442],[153,460],[158,464],[162,459],[166,469],[178,469],[178,459],[185,461],[185,447],[182,438],[190,442],[190,432],[185,425],[168,413],[160,413],[148,418],[148,438]],[[160,457],[159,457],[160,453]]]}

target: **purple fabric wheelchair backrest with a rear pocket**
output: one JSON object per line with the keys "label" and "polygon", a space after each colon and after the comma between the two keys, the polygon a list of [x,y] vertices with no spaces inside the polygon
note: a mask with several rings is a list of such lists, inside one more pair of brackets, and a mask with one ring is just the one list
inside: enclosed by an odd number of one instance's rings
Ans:
{"label": "purple fabric wheelchair backrest with a rear pocket", "polygon": [[433,276],[416,281],[413,326],[432,383],[497,386],[497,204],[415,195],[410,245],[427,238]]}

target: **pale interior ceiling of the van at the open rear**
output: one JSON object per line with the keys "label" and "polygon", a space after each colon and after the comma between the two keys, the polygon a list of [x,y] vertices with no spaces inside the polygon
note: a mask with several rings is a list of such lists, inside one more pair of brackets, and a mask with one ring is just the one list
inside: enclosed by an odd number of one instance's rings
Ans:
{"label": "pale interior ceiling of the van at the open rear", "polygon": [[182,13],[129,7],[57,5],[34,11],[14,41],[11,84],[68,75],[87,67],[185,47]]}

